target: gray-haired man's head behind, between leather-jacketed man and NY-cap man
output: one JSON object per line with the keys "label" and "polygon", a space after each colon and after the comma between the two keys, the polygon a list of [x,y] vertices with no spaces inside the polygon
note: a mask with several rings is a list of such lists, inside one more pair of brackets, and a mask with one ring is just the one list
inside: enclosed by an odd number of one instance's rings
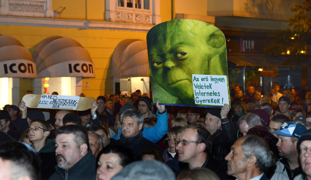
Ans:
{"label": "gray-haired man's head behind, between leather-jacketed man and NY-cap man", "polygon": [[260,117],[257,114],[246,114],[240,117],[238,125],[240,133],[243,133],[243,136],[245,136],[249,129],[262,124],[260,121]]}

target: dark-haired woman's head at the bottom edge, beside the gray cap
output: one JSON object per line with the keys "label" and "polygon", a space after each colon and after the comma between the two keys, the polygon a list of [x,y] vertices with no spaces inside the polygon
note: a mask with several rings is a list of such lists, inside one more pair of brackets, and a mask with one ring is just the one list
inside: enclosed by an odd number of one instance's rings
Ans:
{"label": "dark-haired woman's head at the bottom edge, beside the gray cap", "polygon": [[96,180],[110,180],[134,160],[133,152],[127,147],[112,145],[103,148],[97,156]]}

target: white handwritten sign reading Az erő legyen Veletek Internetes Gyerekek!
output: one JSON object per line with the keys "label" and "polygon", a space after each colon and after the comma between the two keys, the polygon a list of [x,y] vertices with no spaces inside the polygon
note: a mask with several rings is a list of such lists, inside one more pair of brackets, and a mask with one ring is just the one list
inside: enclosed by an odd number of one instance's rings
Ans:
{"label": "white handwritten sign reading Az er\u0151 legyen Veletek Internetes Gyerekek!", "polygon": [[196,104],[219,107],[230,104],[227,76],[193,74],[192,79]]}

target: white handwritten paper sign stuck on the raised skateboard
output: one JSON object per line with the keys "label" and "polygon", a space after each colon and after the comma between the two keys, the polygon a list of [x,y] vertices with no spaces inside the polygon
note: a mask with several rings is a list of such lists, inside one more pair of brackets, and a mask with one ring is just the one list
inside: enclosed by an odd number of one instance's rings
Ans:
{"label": "white handwritten paper sign stuck on the raised skateboard", "polygon": [[42,94],[37,108],[76,109],[79,96],[62,96]]}

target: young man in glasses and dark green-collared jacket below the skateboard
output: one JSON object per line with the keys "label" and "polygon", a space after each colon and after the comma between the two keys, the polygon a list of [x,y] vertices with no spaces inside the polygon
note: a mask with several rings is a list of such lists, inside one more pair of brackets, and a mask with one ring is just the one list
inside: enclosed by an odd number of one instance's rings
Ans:
{"label": "young man in glasses and dark green-collared jacket below the skateboard", "polygon": [[55,172],[55,142],[48,139],[51,126],[47,121],[33,120],[30,127],[26,130],[29,135],[29,141],[41,159],[41,178],[49,179]]}

